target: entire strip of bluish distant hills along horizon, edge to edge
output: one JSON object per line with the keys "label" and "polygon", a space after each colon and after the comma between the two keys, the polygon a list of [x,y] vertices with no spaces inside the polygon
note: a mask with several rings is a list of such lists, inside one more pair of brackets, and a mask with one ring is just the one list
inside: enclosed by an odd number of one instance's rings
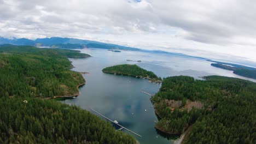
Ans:
{"label": "entire strip of bluish distant hills along horizon, edge to edge", "polygon": [[[178,56],[185,56],[185,57],[191,57],[191,58],[200,58],[202,60],[218,63],[218,64],[212,64],[213,67],[229,69],[229,70],[230,70],[230,68],[234,69],[234,67],[235,67],[236,70],[234,70],[234,74],[249,77],[252,79],[256,79],[255,78],[256,68],[246,67],[245,65],[217,62],[217,61],[212,61],[211,59],[207,59],[207,58],[203,58],[203,57],[195,57],[195,56],[185,55],[183,53],[167,52],[167,51],[161,51],[161,50],[144,50],[144,49],[138,49],[135,47],[101,43],[101,42],[93,41],[93,40],[61,38],[61,37],[42,38],[42,39],[38,38],[36,40],[31,40],[31,39],[26,39],[26,38],[7,39],[7,38],[0,37],[0,45],[8,45],[8,44],[9,45],[31,45],[31,46],[36,46],[36,47],[50,47],[50,48],[58,48],[58,49],[96,48],[96,49],[107,49],[107,50],[116,50],[116,51],[117,50],[129,50],[129,51],[142,51],[142,52],[149,52],[149,53],[165,53],[165,54],[170,54],[170,55],[178,55]],[[223,65],[225,65],[225,67]],[[229,67],[229,65],[231,65],[232,67]]]}

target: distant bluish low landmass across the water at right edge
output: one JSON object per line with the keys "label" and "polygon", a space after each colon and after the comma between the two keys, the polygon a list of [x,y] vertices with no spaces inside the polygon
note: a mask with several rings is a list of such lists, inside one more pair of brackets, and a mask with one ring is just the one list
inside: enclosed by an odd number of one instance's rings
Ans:
{"label": "distant bluish low landmass across the water at right edge", "polygon": [[226,70],[232,70],[234,74],[236,75],[240,75],[240,76],[245,76],[251,79],[255,79],[256,80],[256,69],[251,68],[242,68],[242,67],[234,67],[232,65],[225,65],[225,64],[221,64],[221,63],[212,63],[211,64],[213,67],[217,67],[217,68],[222,68],[222,69],[226,69]]}

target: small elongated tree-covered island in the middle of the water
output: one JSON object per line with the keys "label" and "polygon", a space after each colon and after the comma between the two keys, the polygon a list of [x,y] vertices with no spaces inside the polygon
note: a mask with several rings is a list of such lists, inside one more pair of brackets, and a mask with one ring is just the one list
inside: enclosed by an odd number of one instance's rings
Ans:
{"label": "small elongated tree-covered island in the middle of the water", "polygon": [[152,71],[142,69],[136,64],[114,65],[112,67],[104,68],[102,71],[109,74],[135,76],[149,79],[152,82],[161,82],[161,77],[156,76]]}

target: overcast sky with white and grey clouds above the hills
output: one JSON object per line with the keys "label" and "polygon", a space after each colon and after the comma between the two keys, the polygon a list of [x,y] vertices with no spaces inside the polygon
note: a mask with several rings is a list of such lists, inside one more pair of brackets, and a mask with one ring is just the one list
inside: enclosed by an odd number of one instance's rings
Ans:
{"label": "overcast sky with white and grey clouds above the hills", "polygon": [[256,62],[252,0],[0,0],[0,36],[70,37]]}

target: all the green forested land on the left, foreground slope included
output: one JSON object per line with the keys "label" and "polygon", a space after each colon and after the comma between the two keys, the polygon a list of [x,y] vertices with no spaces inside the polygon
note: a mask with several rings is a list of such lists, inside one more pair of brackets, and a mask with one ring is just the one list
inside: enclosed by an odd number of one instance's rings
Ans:
{"label": "all the green forested land on the left, foreground slope included", "polygon": [[67,57],[88,57],[73,50],[0,46],[0,143],[136,143],[58,95],[77,95],[85,82],[70,70]]}

